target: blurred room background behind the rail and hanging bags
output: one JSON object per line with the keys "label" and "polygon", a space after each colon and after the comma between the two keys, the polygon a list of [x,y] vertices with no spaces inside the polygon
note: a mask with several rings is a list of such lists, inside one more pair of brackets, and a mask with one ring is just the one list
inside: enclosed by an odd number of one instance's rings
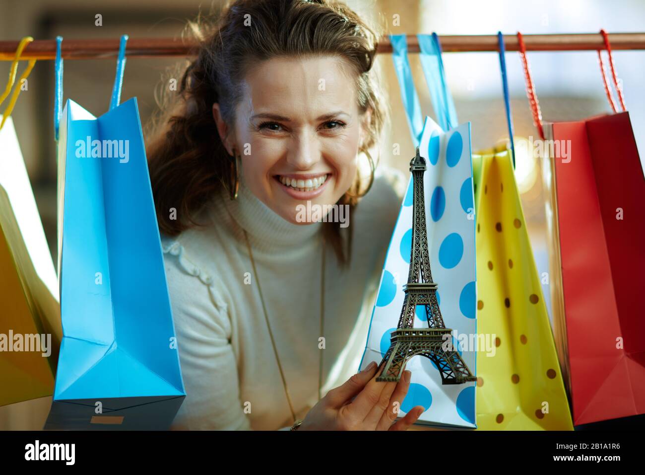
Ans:
{"label": "blurred room background behind the rail and hanging bags", "polygon": [[[179,36],[188,19],[201,11],[208,13],[218,1],[183,0],[0,0],[0,40],[116,38]],[[348,0],[363,16],[371,17],[385,34],[547,34],[593,33],[605,28],[610,34],[641,32],[645,29],[645,2],[642,0]],[[95,26],[95,15],[103,16],[103,26]],[[399,26],[393,15],[398,14]],[[64,41],[64,40],[63,40]],[[533,81],[544,120],[579,120],[610,112],[595,51],[529,52]],[[633,130],[645,160],[645,51],[613,52],[616,70],[622,79],[626,105]],[[443,57],[449,87],[455,98],[460,122],[470,121],[473,151],[489,148],[508,137],[496,52],[446,53]],[[398,167],[406,174],[414,154],[408,124],[401,103],[392,56],[378,57],[382,83],[390,96],[391,120],[381,143],[381,163]],[[137,97],[141,121],[148,121],[156,104],[154,90],[169,67],[185,63],[185,58],[132,58],[125,67],[122,100]],[[421,99],[422,112],[434,116],[421,65],[410,54],[413,76]],[[506,54],[511,108],[516,140],[538,137],[524,88],[524,73],[517,52]],[[26,62],[21,63],[19,74]],[[0,78],[6,78],[10,63],[0,61]],[[114,59],[66,60],[64,100],[73,98],[99,116],[107,111]],[[56,159],[53,136],[54,61],[38,61],[21,93],[12,118],[48,243],[56,261]],[[400,156],[392,156],[393,143],[399,143]],[[0,151],[1,157],[2,151]],[[548,271],[547,228],[544,213],[545,191],[540,179],[539,161],[517,155],[517,180],[522,205],[539,273]],[[550,290],[544,284],[544,298],[551,315]],[[1,306],[1,302],[0,302]],[[51,398],[0,407],[0,430],[40,429]]]}

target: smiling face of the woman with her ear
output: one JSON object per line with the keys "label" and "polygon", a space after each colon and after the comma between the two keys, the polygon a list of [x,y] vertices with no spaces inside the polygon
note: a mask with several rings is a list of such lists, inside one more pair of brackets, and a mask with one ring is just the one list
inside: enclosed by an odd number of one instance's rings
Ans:
{"label": "smiling face of the woman with her ear", "polygon": [[298,205],[333,205],[355,179],[364,136],[356,94],[341,58],[273,58],[248,72],[232,129],[217,103],[213,117],[228,152],[241,155],[252,193],[285,220],[308,224]]}

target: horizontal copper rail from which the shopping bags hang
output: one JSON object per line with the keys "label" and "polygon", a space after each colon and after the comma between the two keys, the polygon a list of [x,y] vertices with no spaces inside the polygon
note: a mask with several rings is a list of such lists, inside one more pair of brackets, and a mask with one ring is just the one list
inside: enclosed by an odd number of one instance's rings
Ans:
{"label": "horizontal copper rail from which the shopping bags hang", "polygon": [[[645,33],[613,33],[609,35],[612,50],[644,50]],[[444,52],[498,51],[497,35],[448,35],[440,36]],[[517,36],[505,35],[507,51],[517,51]],[[527,51],[586,51],[603,50],[599,33],[524,35]],[[157,56],[191,56],[195,43],[173,38],[133,38],[128,40],[128,58],[154,58]],[[0,41],[0,61],[14,59],[18,41]],[[408,35],[408,51],[419,52],[415,35]],[[23,50],[21,59],[54,59],[54,39],[37,39]],[[63,59],[115,58],[119,52],[119,38],[113,39],[64,39],[61,48]],[[383,37],[379,53],[392,53],[389,37]]]}

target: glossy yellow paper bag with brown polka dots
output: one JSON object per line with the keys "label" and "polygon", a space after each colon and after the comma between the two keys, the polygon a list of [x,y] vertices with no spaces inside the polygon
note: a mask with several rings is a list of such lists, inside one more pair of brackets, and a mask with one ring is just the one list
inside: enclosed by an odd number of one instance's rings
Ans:
{"label": "glossy yellow paper bag with brown polka dots", "polygon": [[473,154],[473,180],[477,428],[573,430],[510,151]]}

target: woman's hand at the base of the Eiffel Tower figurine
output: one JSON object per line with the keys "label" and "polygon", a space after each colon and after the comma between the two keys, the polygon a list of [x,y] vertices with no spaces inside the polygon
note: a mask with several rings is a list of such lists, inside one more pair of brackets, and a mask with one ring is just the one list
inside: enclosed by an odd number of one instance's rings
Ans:
{"label": "woman's hand at the base of the Eiffel Tower figurine", "polygon": [[408,394],[412,373],[404,371],[398,383],[377,383],[377,367],[371,363],[342,386],[330,390],[307,413],[298,430],[407,430],[425,410],[415,406],[394,423],[397,409]]}

